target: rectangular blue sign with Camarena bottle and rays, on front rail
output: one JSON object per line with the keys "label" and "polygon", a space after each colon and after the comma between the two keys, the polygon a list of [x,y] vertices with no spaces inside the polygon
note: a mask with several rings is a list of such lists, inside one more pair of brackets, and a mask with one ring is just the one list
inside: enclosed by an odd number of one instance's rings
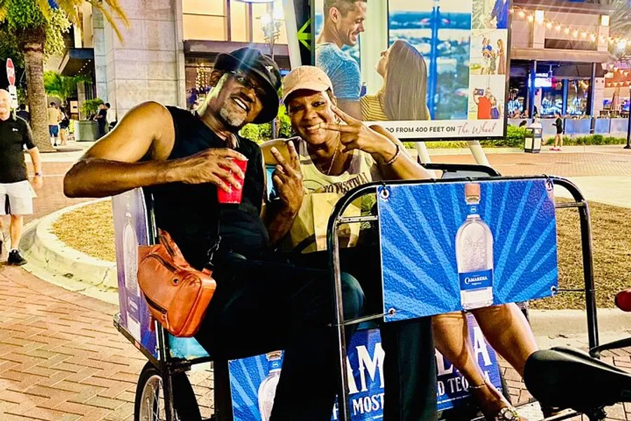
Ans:
{"label": "rectangular blue sign with Camarena bottle and rays, on front rail", "polygon": [[549,180],[392,185],[377,196],[386,321],[556,293]]}

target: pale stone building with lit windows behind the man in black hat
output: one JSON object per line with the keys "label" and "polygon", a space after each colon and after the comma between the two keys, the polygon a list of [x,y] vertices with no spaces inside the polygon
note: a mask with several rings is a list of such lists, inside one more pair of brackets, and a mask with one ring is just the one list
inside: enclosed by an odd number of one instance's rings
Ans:
{"label": "pale stone building with lit windows behind the man in black hat", "polygon": [[82,24],[71,33],[74,46],[59,65],[62,74],[93,71],[94,92],[86,95],[80,88],[79,102],[96,95],[111,104],[118,119],[147,100],[195,107],[210,88],[210,72],[219,53],[243,46],[271,53],[271,36],[276,61],[283,69],[290,67],[281,0],[120,0],[119,4],[129,20],[128,27],[117,21],[121,37],[102,13],[85,4]]}

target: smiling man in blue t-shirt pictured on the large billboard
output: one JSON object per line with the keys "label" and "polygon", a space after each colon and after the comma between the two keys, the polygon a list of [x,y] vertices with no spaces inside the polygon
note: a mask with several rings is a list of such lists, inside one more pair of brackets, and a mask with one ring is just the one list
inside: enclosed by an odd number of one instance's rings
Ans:
{"label": "smiling man in blue t-shirt pictured on the large billboard", "polygon": [[357,44],[365,18],[366,0],[325,0],[324,25],[315,40],[315,65],[331,79],[338,106],[355,119],[362,118],[360,67],[341,48]]}

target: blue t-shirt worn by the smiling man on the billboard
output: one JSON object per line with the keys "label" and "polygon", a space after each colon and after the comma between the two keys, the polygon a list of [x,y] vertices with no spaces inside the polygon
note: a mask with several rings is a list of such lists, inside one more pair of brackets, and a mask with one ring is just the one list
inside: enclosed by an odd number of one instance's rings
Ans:
{"label": "blue t-shirt worn by the smiling man on the billboard", "polygon": [[315,46],[315,65],[323,69],[333,83],[333,93],[340,100],[359,101],[362,81],[354,58],[336,44]]}

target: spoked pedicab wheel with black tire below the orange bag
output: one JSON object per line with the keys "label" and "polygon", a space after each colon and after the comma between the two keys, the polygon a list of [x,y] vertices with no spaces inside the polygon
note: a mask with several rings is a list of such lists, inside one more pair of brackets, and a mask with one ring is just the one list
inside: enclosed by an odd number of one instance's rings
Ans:
{"label": "spoked pedicab wheel with black tire below the orange bag", "polygon": [[[199,406],[189,377],[186,377],[186,373],[177,373],[172,375],[171,382],[175,420],[200,421]],[[134,421],[168,421],[163,395],[162,374],[158,368],[147,361],[140,372],[136,387]]]}

